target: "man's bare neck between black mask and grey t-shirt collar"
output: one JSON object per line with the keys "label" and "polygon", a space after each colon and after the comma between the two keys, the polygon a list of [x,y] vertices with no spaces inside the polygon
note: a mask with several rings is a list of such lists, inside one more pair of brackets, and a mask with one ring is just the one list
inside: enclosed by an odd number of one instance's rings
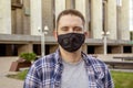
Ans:
{"label": "man's bare neck between black mask and grey t-shirt collar", "polygon": [[70,53],[61,48],[60,54],[64,62],[71,63],[71,64],[78,63],[82,58],[81,48],[74,53]]}

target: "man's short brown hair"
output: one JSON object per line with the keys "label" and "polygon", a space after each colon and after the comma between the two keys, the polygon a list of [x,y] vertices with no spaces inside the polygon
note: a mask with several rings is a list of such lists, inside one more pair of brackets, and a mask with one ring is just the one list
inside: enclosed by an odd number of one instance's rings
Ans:
{"label": "man's short brown hair", "polygon": [[81,18],[81,20],[82,20],[82,22],[83,22],[83,25],[85,24],[85,19],[84,19],[83,14],[82,14],[80,11],[74,10],[74,9],[66,9],[66,10],[63,10],[63,11],[59,14],[59,16],[58,16],[58,19],[57,19],[57,29],[58,29],[58,26],[59,26],[59,21],[60,21],[61,16],[66,15],[66,14],[71,14],[71,15],[75,15],[75,16]]}

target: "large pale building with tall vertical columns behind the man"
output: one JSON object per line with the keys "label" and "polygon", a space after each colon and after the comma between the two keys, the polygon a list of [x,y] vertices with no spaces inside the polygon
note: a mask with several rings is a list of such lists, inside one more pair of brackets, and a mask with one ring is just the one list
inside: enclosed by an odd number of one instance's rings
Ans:
{"label": "large pale building with tall vertical columns behind the man", "polygon": [[129,4],[130,0],[0,0],[0,56],[17,56],[22,52],[41,55],[41,31],[45,25],[49,28],[45,54],[54,52],[58,43],[52,32],[58,14],[64,9],[76,9],[86,20],[90,36],[84,52],[132,54]]}

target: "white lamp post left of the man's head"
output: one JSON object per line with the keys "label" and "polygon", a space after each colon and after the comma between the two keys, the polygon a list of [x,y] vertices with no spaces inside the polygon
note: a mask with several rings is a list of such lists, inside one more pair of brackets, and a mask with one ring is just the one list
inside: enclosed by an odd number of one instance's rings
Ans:
{"label": "white lamp post left of the man's head", "polygon": [[41,56],[45,55],[45,38],[44,35],[48,34],[49,28],[45,25],[43,30],[41,30]]}

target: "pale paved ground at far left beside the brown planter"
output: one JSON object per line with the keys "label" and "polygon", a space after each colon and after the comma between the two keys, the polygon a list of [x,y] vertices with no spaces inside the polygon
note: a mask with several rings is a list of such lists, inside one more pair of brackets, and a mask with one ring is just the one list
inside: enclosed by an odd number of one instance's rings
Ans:
{"label": "pale paved ground at far left beside the brown planter", "polygon": [[0,88],[22,88],[23,81],[6,77],[9,72],[10,65],[17,57],[0,57]]}

